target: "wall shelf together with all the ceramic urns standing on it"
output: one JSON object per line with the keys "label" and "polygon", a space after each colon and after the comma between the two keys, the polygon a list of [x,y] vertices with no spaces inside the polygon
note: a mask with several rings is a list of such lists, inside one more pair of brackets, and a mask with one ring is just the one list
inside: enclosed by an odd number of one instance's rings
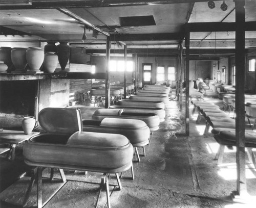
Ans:
{"label": "wall shelf together with all the ceramic urns standing on it", "polygon": [[69,58],[67,42],[48,42],[44,50],[0,47],[0,81],[105,79],[105,73],[91,73],[91,65],[68,63]]}

